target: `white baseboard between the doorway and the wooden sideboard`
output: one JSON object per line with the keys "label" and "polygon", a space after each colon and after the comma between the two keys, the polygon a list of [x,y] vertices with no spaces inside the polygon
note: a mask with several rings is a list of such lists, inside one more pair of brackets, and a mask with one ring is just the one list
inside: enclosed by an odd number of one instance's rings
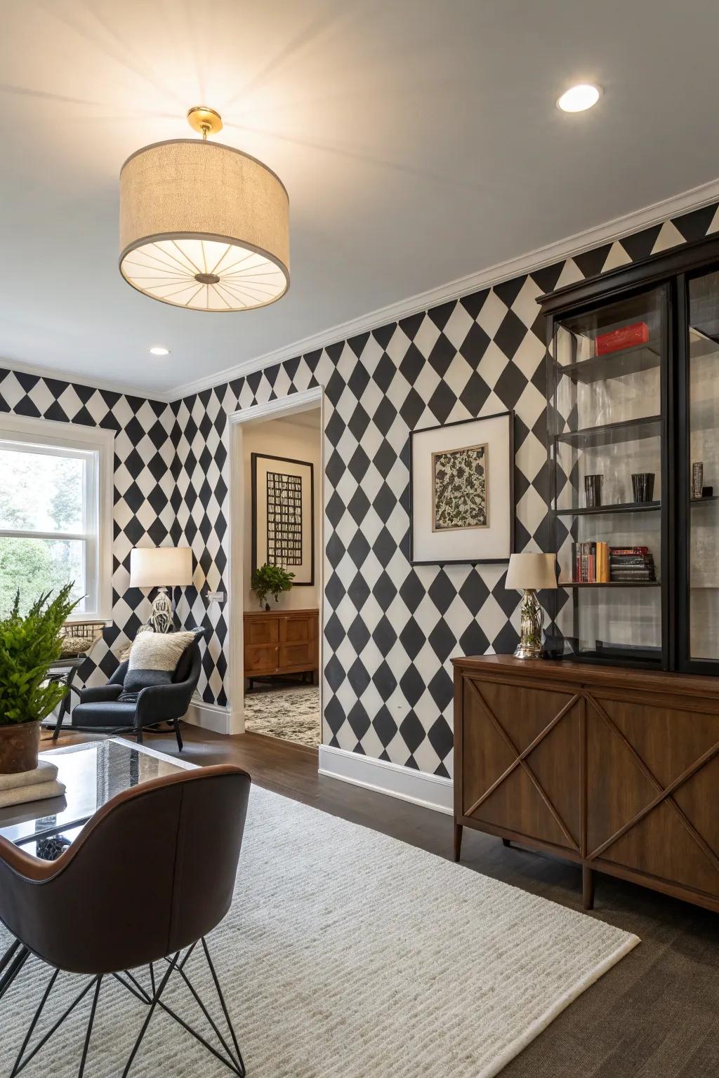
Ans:
{"label": "white baseboard between the doorway and the wooden sideboard", "polygon": [[451,778],[428,775],[425,771],[402,768],[399,763],[320,745],[319,773],[352,786],[362,786],[365,790],[387,793],[400,801],[411,801],[424,808],[434,808],[447,815],[454,812],[454,783]]}

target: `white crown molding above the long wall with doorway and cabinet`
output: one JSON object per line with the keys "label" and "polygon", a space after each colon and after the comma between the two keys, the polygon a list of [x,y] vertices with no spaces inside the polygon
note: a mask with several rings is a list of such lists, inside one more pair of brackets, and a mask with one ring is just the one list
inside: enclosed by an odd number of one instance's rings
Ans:
{"label": "white crown molding above the long wall with doorway and cabinet", "polygon": [[360,315],[358,318],[354,318],[347,322],[341,322],[338,326],[333,326],[321,333],[303,337],[301,341],[295,341],[274,351],[264,353],[255,359],[237,363],[236,367],[225,368],[225,370],[219,371],[217,374],[188,382],[184,385],[178,386],[172,391],[174,399],[189,397],[193,393],[202,392],[204,389],[211,389],[213,386],[231,382],[233,378],[239,378],[252,374],[254,371],[261,371],[265,367],[281,363],[284,360],[294,359],[306,353],[327,348],[331,344],[336,344],[338,341],[346,341],[358,333],[367,333],[370,330],[378,329],[381,326],[386,326],[388,322],[396,322],[400,318],[407,318],[410,315],[416,315],[420,310],[427,310],[429,307],[438,306],[451,300],[458,300],[462,295],[479,292],[483,288],[492,288],[495,285],[500,285],[512,277],[518,277],[523,274],[541,270],[543,266],[552,265],[554,262],[570,259],[575,254],[581,254],[583,251],[592,250],[594,247],[600,247],[603,244],[621,239],[622,236],[627,236],[633,232],[649,229],[651,225],[659,224],[667,218],[677,217],[679,213],[688,212],[692,209],[701,209],[702,206],[708,206],[713,202],[719,202],[719,179],[711,180],[709,183],[703,183],[699,188],[692,188],[690,191],[683,191],[681,194],[673,195],[663,202],[652,203],[651,206],[645,206],[641,209],[634,210],[632,213],[614,218],[612,221],[605,221],[604,224],[595,225],[585,232],[578,232],[571,236],[566,236],[564,239],[548,244],[545,247],[538,247],[526,254],[508,259],[506,262],[498,262],[495,265],[479,271],[479,273],[458,277],[446,285],[440,285],[438,288],[429,289],[426,292],[418,292],[406,300],[371,310],[369,314]]}

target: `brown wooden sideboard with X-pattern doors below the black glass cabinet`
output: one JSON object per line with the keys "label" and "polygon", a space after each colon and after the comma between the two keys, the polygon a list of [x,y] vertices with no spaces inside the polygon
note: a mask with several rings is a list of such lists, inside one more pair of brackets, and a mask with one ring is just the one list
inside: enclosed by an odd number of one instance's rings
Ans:
{"label": "brown wooden sideboard with X-pattern doors below the black glass cabinet", "polygon": [[719,912],[719,678],[455,659],[462,827]]}

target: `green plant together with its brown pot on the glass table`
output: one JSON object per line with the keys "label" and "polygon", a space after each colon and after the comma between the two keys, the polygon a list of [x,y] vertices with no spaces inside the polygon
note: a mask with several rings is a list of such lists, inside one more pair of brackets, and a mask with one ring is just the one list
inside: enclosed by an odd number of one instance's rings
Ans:
{"label": "green plant together with its brown pot on the glass table", "polygon": [[11,612],[0,619],[0,774],[33,771],[38,766],[40,723],[67,692],[66,685],[47,681],[47,672],[60,655],[60,630],[77,603],[72,584],[51,602],[41,595],[25,617],[19,592]]}

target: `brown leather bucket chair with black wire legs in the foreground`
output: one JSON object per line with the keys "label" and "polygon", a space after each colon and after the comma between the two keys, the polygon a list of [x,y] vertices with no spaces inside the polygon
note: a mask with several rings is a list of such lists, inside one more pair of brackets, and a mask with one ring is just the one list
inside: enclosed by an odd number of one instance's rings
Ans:
{"label": "brown leather bucket chair with black wire legs in the foreground", "polygon": [[[205,936],[232,902],[249,790],[249,775],[230,765],[197,768],[153,779],[112,798],[55,861],[39,860],[0,837],[0,921],[16,937],[0,966],[0,995],[10,989],[29,954],[54,970],[13,1074],[57,1028],[55,1025],[30,1047],[55,979],[60,970],[68,970],[92,979],[64,1019],[94,989],[79,1078],[107,976],[115,977],[148,1008],[123,1078],[156,1007],[171,1014],[234,1074],[245,1075]],[[111,911],[116,910],[122,910],[122,916],[112,916]],[[201,1006],[224,1055],[162,999],[174,972],[195,993],[186,962],[197,943],[202,943],[212,973],[234,1052],[226,1034],[220,1033]],[[153,967],[157,962],[163,963],[160,975]],[[138,966],[149,966],[150,986],[143,986],[139,975],[129,972]]]}

